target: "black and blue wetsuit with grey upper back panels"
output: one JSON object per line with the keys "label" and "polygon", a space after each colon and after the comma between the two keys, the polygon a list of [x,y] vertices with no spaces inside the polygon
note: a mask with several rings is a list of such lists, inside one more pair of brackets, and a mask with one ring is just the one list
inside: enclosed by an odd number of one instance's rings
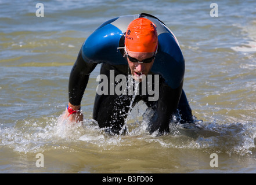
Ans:
{"label": "black and blue wetsuit with grey upper back panels", "polygon": [[[69,102],[72,105],[81,104],[89,75],[98,64],[102,64],[100,74],[106,75],[108,79],[110,79],[110,70],[114,70],[115,76],[131,74],[127,59],[123,57],[124,50],[117,49],[117,47],[124,46],[128,24],[139,17],[148,18],[157,27],[158,49],[149,74],[160,76],[159,98],[157,101],[149,101],[150,95],[148,94],[139,94],[132,99],[134,95],[110,95],[110,93],[99,95],[96,93],[93,119],[98,121],[100,128],[106,128],[113,134],[119,134],[123,127],[131,101],[134,106],[135,103],[143,100],[153,110],[148,128],[150,133],[169,132],[169,123],[177,112],[181,116],[179,122],[191,123],[193,121],[188,100],[182,89],[185,60],[178,40],[163,22],[145,13],[120,16],[106,21],[85,40],[70,73]],[[115,86],[116,84],[118,82]]]}

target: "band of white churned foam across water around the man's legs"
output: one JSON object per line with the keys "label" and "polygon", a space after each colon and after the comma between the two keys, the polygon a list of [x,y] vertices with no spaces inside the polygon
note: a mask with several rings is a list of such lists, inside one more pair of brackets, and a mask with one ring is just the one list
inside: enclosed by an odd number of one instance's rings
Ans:
{"label": "band of white churned foam across water around the man's legs", "polygon": [[[146,112],[147,114],[147,112]],[[139,115],[140,116],[140,115]],[[126,123],[125,135],[110,136],[100,129],[94,120],[70,123],[62,117],[45,117],[41,121],[24,120],[15,124],[0,124],[0,146],[10,147],[21,153],[35,153],[53,146],[68,145],[75,142],[82,147],[131,146],[143,142],[152,147],[170,149],[196,149],[207,153],[239,154],[255,156],[256,125],[254,123],[170,123],[170,134],[157,136],[147,131],[147,116],[136,123]],[[135,117],[134,117],[135,119]],[[142,119],[140,117],[140,119]],[[66,144],[65,144],[66,143]]]}

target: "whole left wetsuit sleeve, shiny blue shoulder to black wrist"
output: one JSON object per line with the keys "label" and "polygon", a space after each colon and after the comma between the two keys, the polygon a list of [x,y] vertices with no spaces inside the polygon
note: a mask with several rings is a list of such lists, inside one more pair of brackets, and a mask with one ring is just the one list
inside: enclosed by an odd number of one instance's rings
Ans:
{"label": "whole left wetsuit sleeve, shiny blue shoulder to black wrist", "polygon": [[80,105],[89,75],[97,64],[126,64],[117,50],[122,32],[110,24],[114,20],[116,18],[100,25],[81,47],[68,84],[68,97],[72,105]]}

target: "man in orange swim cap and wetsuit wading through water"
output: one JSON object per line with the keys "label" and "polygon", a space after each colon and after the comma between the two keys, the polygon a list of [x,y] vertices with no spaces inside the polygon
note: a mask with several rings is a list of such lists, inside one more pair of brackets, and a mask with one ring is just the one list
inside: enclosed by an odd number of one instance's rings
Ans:
{"label": "man in orange swim cap and wetsuit wading through water", "polygon": [[[182,51],[174,34],[158,18],[146,13],[113,18],[85,40],[70,73],[69,102],[64,118],[83,120],[80,112],[82,96],[90,73],[100,63],[100,75],[106,75],[109,86],[105,93],[96,93],[95,97],[93,119],[100,128],[106,128],[111,134],[121,134],[129,109],[141,100],[153,110],[148,127],[150,133],[168,133],[169,123],[178,113],[180,123],[193,122],[182,89],[185,73]],[[123,75],[128,81],[132,76],[135,82],[140,82],[139,93],[111,93],[120,83],[113,82],[113,74],[115,79]],[[142,83],[148,82],[150,75],[153,75],[152,86],[158,93],[153,100],[149,87],[144,86],[147,93],[141,93]],[[134,86],[134,83],[127,84]]]}

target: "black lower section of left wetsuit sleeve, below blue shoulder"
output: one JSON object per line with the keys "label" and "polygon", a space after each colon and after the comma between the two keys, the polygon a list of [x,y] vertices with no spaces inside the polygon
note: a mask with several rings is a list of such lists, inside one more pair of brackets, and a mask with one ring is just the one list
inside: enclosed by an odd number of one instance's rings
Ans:
{"label": "black lower section of left wetsuit sleeve, below blue shoulder", "polygon": [[95,69],[97,64],[85,62],[82,58],[82,49],[70,72],[68,82],[68,98],[72,105],[80,105],[82,96],[87,86],[89,75]]}

